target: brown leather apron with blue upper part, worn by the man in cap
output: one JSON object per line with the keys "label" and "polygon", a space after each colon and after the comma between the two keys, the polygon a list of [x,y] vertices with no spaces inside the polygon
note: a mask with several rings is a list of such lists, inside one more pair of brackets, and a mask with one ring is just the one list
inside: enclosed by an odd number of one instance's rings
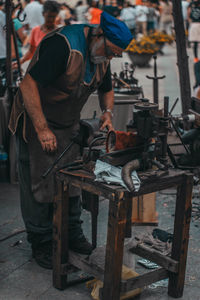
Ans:
{"label": "brown leather apron with blue upper part, worn by the man in cap", "polygon": [[[42,87],[38,84],[42,109],[47,119],[48,126],[57,138],[58,149],[53,154],[42,150],[33,124],[24,107],[23,97],[19,90],[16,103],[13,105],[9,127],[14,133],[21,115],[24,116],[24,138],[28,142],[31,186],[34,198],[39,202],[52,202],[54,197],[54,174],[51,172],[46,179],[42,174],[52,165],[55,159],[71,143],[71,138],[79,130],[80,112],[88,97],[102,83],[109,62],[93,65],[87,53],[87,39],[84,35],[86,25],[71,25],[54,31],[44,39],[54,34],[61,35],[69,49],[70,55],[66,73],[58,78],[51,86]],[[44,40],[43,39],[43,40]],[[37,62],[39,57],[37,49],[27,72]],[[19,109],[21,107],[21,110]],[[23,109],[22,109],[23,108]],[[74,144],[71,149],[57,164],[61,167],[72,162],[80,155],[79,145]],[[70,196],[77,196],[80,190],[70,188]]]}

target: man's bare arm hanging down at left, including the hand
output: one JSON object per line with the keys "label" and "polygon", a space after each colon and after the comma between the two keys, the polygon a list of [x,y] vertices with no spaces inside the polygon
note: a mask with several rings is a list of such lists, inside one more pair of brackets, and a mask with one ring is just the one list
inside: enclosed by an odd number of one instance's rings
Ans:
{"label": "man's bare arm hanging down at left, including the hand", "polygon": [[29,74],[26,74],[21,82],[20,89],[26,111],[33,122],[43,150],[47,152],[55,151],[57,148],[56,137],[48,128],[36,81]]}

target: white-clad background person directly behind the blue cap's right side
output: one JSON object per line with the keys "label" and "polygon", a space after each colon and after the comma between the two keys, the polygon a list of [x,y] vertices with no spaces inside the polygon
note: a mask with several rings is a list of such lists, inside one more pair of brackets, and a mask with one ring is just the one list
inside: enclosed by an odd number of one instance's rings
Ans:
{"label": "white-clad background person directly behind the blue cap's right side", "polygon": [[120,13],[120,19],[124,21],[126,26],[129,28],[130,32],[135,38],[136,30],[136,8],[130,4],[130,2],[125,2],[124,7]]}

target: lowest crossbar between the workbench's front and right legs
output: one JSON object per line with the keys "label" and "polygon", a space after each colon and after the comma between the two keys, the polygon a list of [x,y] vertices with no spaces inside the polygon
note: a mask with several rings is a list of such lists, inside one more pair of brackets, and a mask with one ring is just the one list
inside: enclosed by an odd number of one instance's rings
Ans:
{"label": "lowest crossbar between the workbench's front and right legs", "polygon": [[168,278],[168,271],[164,268],[160,268],[154,271],[150,271],[143,275],[128,279],[121,282],[121,293],[132,291],[137,288],[147,286],[153,282]]}

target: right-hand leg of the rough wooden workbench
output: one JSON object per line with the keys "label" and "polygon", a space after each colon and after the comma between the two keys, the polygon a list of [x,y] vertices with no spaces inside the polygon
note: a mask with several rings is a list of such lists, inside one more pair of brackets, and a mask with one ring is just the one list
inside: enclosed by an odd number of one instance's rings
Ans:
{"label": "right-hand leg of the rough wooden workbench", "polygon": [[184,175],[177,189],[174,236],[171,257],[179,262],[178,273],[169,273],[168,294],[174,298],[183,295],[189,228],[192,211],[193,176]]}

